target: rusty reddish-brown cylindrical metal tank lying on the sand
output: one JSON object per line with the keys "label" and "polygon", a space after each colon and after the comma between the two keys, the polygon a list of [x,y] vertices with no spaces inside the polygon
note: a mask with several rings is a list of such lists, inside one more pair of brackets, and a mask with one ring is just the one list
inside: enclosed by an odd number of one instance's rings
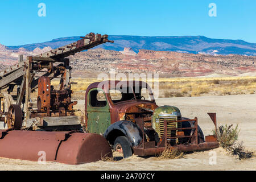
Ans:
{"label": "rusty reddish-brown cylindrical metal tank lying on the sand", "polygon": [[0,157],[82,164],[112,157],[108,141],[98,134],[24,130],[0,130]]}

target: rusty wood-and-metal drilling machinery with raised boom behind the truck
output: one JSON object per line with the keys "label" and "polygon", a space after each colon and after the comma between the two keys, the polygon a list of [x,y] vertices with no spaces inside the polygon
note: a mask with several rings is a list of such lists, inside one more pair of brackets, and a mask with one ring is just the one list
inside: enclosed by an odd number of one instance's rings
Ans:
{"label": "rusty wood-and-metal drilling machinery with raised boom behind the truck", "polygon": [[[107,42],[113,43],[108,40],[108,35],[90,33],[82,36],[77,42],[38,56],[28,56],[26,60],[23,60],[23,56],[20,55],[18,64],[0,72],[0,92],[4,89],[8,92],[0,93],[0,123],[3,123],[0,128],[7,126],[11,128],[14,126],[14,123],[10,124],[12,122],[18,122],[17,126],[22,122],[23,127],[27,128],[30,127],[27,121],[31,118],[74,115],[75,110],[72,107],[77,102],[71,101],[72,68],[69,65],[69,59],[65,57]],[[60,79],[58,90],[51,86],[51,80],[54,78]],[[15,86],[17,91],[14,89]],[[38,89],[38,100],[34,107],[30,95],[36,89]],[[11,105],[15,109],[9,110]],[[19,107],[22,107],[22,115],[16,111]],[[15,121],[10,118],[11,111],[16,117],[19,115]],[[8,121],[9,125],[7,125]]]}

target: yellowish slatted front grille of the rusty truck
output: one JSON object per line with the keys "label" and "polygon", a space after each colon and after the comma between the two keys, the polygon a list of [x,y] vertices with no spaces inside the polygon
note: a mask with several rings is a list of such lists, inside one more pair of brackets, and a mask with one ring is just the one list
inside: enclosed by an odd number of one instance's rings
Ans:
{"label": "yellowish slatted front grille of the rusty truck", "polygon": [[[160,117],[159,118],[159,124],[160,124],[160,137],[164,134],[164,120],[166,121],[177,121],[181,120],[181,117]],[[177,137],[177,131],[178,130],[170,130],[170,129],[179,129],[182,127],[181,122],[175,122],[175,123],[167,123],[167,140],[171,145],[175,145],[179,143],[179,139],[168,139],[168,137]]]}

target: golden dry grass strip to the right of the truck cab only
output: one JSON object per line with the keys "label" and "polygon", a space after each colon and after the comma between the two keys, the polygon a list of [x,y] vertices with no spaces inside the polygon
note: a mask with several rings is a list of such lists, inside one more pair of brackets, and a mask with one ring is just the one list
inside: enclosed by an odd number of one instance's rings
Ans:
{"label": "golden dry grass strip to the right of the truck cab only", "polygon": [[[180,92],[184,97],[255,94],[256,77],[159,78],[159,89]],[[163,94],[164,95],[164,94]],[[174,97],[171,96],[170,97]]]}

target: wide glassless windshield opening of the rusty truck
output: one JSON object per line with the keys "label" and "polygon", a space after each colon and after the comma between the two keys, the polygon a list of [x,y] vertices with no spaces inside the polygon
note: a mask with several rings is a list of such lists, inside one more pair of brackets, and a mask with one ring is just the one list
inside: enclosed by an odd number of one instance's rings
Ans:
{"label": "wide glassless windshield opening of the rusty truck", "polygon": [[109,95],[114,104],[132,100],[154,101],[153,94],[150,94],[147,88],[142,87],[110,89]]}

